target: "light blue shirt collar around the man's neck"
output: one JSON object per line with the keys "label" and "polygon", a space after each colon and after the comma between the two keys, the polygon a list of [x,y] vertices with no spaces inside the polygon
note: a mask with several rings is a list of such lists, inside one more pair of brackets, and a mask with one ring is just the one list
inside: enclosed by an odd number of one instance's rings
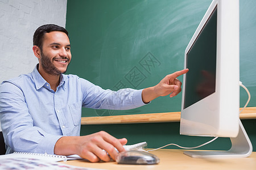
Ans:
{"label": "light blue shirt collar around the man's neck", "polygon": [[[42,77],[42,75],[39,73],[38,65],[39,64],[35,66],[34,70],[31,73],[32,78],[35,81],[36,90],[39,90],[39,88],[42,88],[45,84],[48,84],[46,80]],[[61,87],[63,85],[63,87],[65,88],[65,79],[65,76],[63,76],[63,74],[60,74],[60,84],[58,87]]]}

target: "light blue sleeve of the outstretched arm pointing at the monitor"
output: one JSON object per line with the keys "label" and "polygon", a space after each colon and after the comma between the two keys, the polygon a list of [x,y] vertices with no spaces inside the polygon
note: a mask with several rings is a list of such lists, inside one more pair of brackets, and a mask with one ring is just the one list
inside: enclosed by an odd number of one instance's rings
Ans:
{"label": "light blue sleeve of the outstretched arm pointing at the monitor", "polygon": [[93,109],[128,110],[145,105],[142,90],[123,88],[104,90],[88,80],[79,78],[82,88],[82,107]]}

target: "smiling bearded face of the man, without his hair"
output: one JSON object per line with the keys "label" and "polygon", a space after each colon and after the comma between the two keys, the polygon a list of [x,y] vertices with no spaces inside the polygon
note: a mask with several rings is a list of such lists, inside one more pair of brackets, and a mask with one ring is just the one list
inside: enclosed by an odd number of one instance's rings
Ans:
{"label": "smiling bearded face of the man, without his hair", "polygon": [[51,75],[59,75],[67,71],[71,61],[71,50],[68,36],[64,32],[46,33],[40,52],[39,67]]}

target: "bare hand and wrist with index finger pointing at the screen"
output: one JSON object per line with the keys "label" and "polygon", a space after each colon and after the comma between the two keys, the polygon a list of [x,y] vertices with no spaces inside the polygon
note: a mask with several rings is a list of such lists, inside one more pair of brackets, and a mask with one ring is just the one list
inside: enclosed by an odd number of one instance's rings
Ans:
{"label": "bare hand and wrist with index finger pointing at the screen", "polygon": [[175,73],[167,75],[156,86],[145,88],[142,91],[142,100],[148,103],[159,96],[174,97],[181,91],[181,82],[177,79],[178,76],[188,72],[188,69],[176,71]]}

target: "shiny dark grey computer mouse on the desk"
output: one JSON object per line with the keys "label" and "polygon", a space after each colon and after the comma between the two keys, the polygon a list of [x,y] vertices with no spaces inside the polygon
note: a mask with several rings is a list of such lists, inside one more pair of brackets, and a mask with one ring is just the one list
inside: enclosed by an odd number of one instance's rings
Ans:
{"label": "shiny dark grey computer mouse on the desk", "polygon": [[156,155],[150,154],[146,151],[130,150],[120,152],[115,158],[118,164],[158,164],[160,162]]}

